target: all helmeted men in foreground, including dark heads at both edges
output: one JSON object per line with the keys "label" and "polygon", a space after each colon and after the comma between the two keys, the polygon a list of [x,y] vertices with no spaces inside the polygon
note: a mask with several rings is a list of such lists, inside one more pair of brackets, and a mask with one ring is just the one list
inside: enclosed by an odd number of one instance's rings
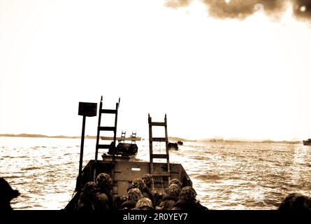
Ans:
{"label": "all helmeted men in foreground, including dark heads at both edges", "polygon": [[[198,200],[196,191],[191,186],[182,188],[178,179],[171,179],[164,194],[152,190],[153,179],[150,174],[133,179],[123,197],[112,195],[113,183],[109,174],[101,173],[96,182],[85,183],[80,193],[78,211],[113,211],[113,210],[196,210],[207,211]],[[0,211],[13,210],[10,201],[20,195],[10,184],[0,177]],[[311,211],[311,198],[300,193],[291,193],[285,197],[280,211]]]}

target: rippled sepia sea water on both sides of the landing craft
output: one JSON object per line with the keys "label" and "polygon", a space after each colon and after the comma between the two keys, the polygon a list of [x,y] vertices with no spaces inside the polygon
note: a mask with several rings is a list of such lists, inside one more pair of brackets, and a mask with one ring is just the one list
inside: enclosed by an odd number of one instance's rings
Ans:
{"label": "rippled sepia sea water on both sides of the landing craft", "polygon": [[[83,166],[95,144],[85,139]],[[136,160],[149,161],[148,141],[136,144]],[[21,193],[13,209],[64,209],[79,160],[80,139],[0,137],[0,176]],[[170,162],[182,164],[208,209],[270,210],[289,193],[311,195],[311,146],[185,141]]]}

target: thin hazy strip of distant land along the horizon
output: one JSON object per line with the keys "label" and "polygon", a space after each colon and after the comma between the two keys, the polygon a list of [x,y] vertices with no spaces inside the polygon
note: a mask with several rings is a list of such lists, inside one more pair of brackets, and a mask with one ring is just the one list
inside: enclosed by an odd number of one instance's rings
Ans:
{"label": "thin hazy strip of distant land along the horizon", "polygon": [[[44,134],[0,134],[0,137],[26,137],[26,138],[49,138],[49,139],[81,139],[80,136],[65,136],[65,135],[57,135],[57,136],[48,136]],[[105,140],[112,140],[113,137],[103,137]],[[85,136],[85,139],[96,139],[96,136]],[[117,137],[117,140],[120,140],[120,137]],[[126,141],[131,141],[131,137],[126,137]],[[136,137],[136,141],[145,140],[141,137]],[[247,140],[224,140],[224,139],[197,139],[197,140],[189,140],[182,139],[178,137],[168,137],[168,141],[197,141],[197,142],[217,142],[217,143],[258,143],[258,144],[302,144],[302,141],[271,141],[271,140],[263,140],[263,141],[247,141]]]}

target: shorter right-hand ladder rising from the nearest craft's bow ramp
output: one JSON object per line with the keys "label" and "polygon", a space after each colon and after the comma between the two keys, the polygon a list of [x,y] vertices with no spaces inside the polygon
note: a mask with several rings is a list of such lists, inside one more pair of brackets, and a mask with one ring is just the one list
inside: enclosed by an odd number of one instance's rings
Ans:
{"label": "shorter right-hand ladder rising from the nearest craft's bow ramp", "polygon": [[[170,159],[168,154],[168,134],[167,134],[167,122],[166,122],[166,114],[164,118],[164,122],[152,122],[152,118],[148,113],[148,123],[149,123],[149,153],[150,153],[150,174],[152,176],[171,176],[171,168],[170,168]],[[152,137],[152,126],[162,126],[165,128],[165,137]],[[166,146],[166,153],[165,154],[154,154],[153,153],[153,142],[164,142]],[[166,159],[167,163],[167,171],[156,171],[154,169],[154,162],[153,159]]]}

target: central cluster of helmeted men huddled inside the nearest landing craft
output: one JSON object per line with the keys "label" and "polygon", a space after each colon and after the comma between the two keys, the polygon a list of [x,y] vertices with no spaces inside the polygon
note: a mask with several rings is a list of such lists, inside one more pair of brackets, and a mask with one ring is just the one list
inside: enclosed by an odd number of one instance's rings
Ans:
{"label": "central cluster of helmeted men huddled inside the nearest landing craft", "polygon": [[153,178],[144,174],[133,179],[123,197],[111,194],[113,184],[109,174],[101,173],[96,182],[85,183],[80,193],[77,210],[109,211],[109,210],[208,210],[198,200],[196,191],[191,186],[182,188],[178,179],[171,179],[164,195],[152,190]]}

